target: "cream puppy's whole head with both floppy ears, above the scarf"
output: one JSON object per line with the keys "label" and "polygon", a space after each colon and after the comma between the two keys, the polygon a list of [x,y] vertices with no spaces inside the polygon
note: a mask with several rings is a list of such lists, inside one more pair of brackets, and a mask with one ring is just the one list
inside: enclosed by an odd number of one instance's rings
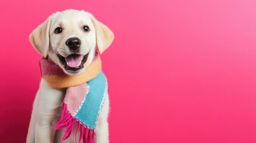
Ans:
{"label": "cream puppy's whole head with both floppy ears, above the scarf", "polygon": [[90,13],[57,12],[30,34],[32,45],[67,74],[79,74],[90,65],[96,46],[100,54],[112,43],[112,31]]}

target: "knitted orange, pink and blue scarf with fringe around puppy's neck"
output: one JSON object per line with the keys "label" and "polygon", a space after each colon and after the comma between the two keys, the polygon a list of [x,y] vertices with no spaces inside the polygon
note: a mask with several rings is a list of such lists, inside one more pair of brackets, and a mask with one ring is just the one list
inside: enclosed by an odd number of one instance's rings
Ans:
{"label": "knitted orange, pink and blue scarf with fringe around puppy's neck", "polygon": [[[64,130],[64,139],[75,129],[75,142],[95,141],[95,125],[107,94],[107,80],[101,71],[101,60],[96,54],[94,60],[81,74],[70,76],[53,61],[44,57],[40,60],[42,78],[54,89],[66,89],[62,114],[55,130]],[[80,130],[79,141],[77,133]],[[61,142],[62,142],[61,141]]]}

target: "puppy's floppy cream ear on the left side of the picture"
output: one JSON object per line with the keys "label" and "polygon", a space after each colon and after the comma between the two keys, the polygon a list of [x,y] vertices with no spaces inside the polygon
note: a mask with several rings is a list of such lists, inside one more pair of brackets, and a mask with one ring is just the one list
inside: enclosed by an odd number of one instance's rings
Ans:
{"label": "puppy's floppy cream ear on the left side of the picture", "polygon": [[44,23],[40,24],[33,32],[29,35],[29,41],[40,52],[44,57],[47,57],[47,52],[50,46],[50,25],[51,17],[48,17]]}

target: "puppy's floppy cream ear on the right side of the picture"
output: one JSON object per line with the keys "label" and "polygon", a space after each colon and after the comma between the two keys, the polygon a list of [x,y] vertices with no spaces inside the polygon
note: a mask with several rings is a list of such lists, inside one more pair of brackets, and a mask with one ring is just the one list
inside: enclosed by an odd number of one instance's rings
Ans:
{"label": "puppy's floppy cream ear on the right side of the picture", "polygon": [[90,17],[95,27],[98,50],[102,54],[112,43],[114,34],[107,26],[96,20],[91,14]]}

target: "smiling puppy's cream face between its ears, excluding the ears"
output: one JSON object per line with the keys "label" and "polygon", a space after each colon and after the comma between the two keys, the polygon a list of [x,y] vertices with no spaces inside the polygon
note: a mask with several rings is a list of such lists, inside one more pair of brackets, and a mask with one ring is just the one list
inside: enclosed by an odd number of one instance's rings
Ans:
{"label": "smiling puppy's cream face between its ears, excluding the ears", "polygon": [[95,55],[96,33],[90,15],[83,11],[54,14],[50,45],[49,57],[64,71],[69,74],[83,71]]}

